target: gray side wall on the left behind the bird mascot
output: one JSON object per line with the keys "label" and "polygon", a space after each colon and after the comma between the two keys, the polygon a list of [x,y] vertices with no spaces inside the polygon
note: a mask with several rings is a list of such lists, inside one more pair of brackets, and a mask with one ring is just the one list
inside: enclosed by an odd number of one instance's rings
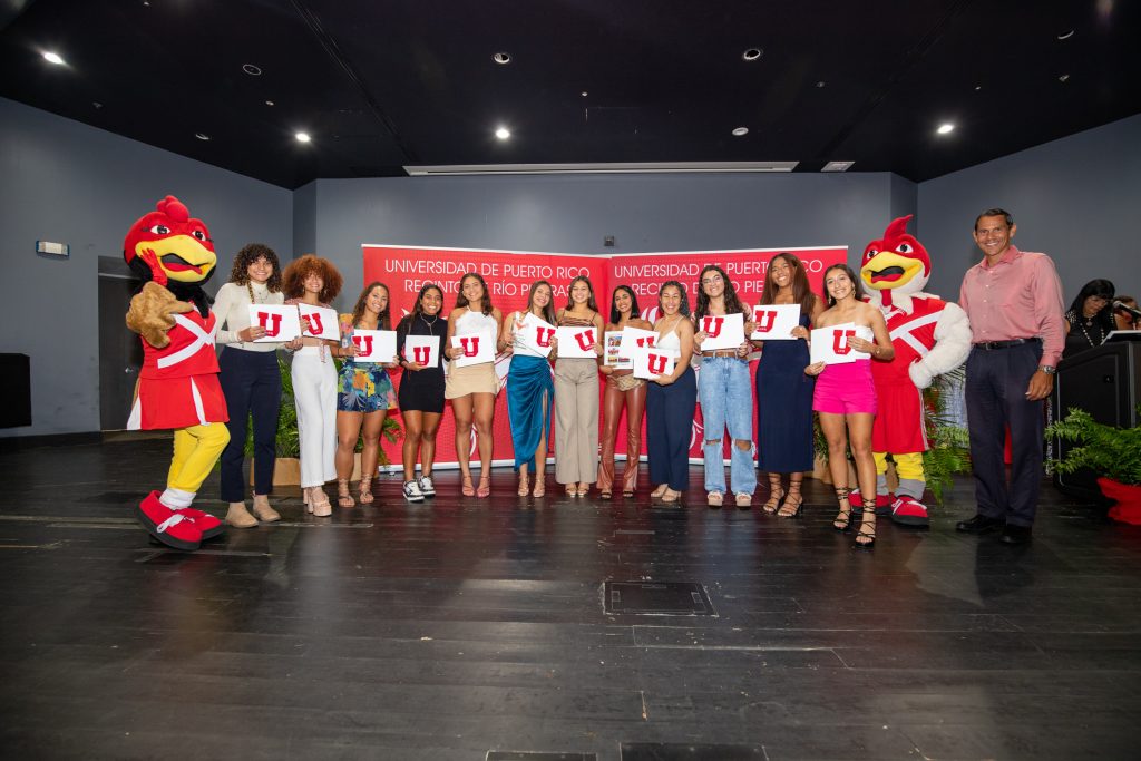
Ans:
{"label": "gray side wall on the left behind the bird mascot", "polygon": [[[32,357],[32,426],[0,437],[99,429],[98,257],[121,258],[127,228],[168,193],[210,227],[213,289],[244,243],[292,256],[289,191],[0,98],[0,349]],[[37,256],[38,240],[71,258]]]}

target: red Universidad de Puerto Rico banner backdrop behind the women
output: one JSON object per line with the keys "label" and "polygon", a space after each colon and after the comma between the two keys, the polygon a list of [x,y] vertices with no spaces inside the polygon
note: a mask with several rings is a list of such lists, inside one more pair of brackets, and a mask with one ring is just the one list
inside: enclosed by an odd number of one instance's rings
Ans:
{"label": "red Universidad de Puerto Rico banner backdrop behind the women", "polygon": [[[555,306],[559,308],[567,306],[567,289],[570,281],[578,275],[586,275],[594,286],[594,298],[604,321],[609,318],[610,289],[618,284],[625,284],[630,285],[638,294],[642,316],[653,322],[657,315],[657,290],[662,283],[669,280],[682,283],[689,298],[690,309],[693,309],[698,276],[702,267],[706,264],[720,265],[734,282],[742,301],[753,307],[760,302],[769,260],[782,251],[794,253],[801,259],[808,272],[812,290],[817,293],[820,292],[824,270],[833,264],[847,261],[848,258],[847,248],[843,246],[686,251],[610,257],[396,245],[364,245],[362,248],[364,281],[366,283],[380,281],[388,286],[394,323],[412,310],[416,294],[424,283],[436,283],[444,291],[443,314],[446,316],[456,305],[460,278],[468,272],[483,275],[491,290],[492,303],[503,313],[504,317],[516,309],[526,307],[528,288],[536,280],[545,280],[551,283],[555,290]],[[509,367],[509,356],[496,357],[495,371],[501,380],[507,377]],[[399,371],[395,371],[394,382],[400,382]],[[511,450],[511,430],[502,383],[495,402],[494,437],[494,462],[496,464],[512,463],[515,454]],[[454,440],[453,418],[445,411],[437,435],[436,462],[438,464],[444,467],[455,464]],[[701,460],[701,406],[698,405],[689,452],[691,459]],[[383,443],[383,446],[389,460],[399,463],[399,444]],[[553,442],[551,446],[553,448]],[[624,451],[623,437],[621,436],[617,446],[620,453]],[[475,454],[474,438],[469,446],[469,458],[478,459]]]}

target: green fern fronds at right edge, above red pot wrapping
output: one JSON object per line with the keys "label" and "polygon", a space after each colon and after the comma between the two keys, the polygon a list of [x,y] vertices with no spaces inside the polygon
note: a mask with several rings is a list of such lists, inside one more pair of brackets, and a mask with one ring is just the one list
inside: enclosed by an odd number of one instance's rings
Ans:
{"label": "green fern fronds at right edge, above red pot wrapping", "polygon": [[1054,463],[1058,472],[1089,468],[1119,484],[1141,484],[1141,427],[1107,426],[1085,410],[1070,407],[1069,414],[1046,428],[1046,437],[1076,445]]}

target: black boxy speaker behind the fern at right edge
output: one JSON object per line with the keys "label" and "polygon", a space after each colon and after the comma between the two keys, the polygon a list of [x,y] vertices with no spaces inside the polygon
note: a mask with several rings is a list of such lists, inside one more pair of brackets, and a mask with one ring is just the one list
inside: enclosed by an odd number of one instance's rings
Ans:
{"label": "black boxy speaker behind the fern at right edge", "polygon": [[[1058,363],[1054,389],[1054,419],[1065,418],[1070,407],[1085,410],[1099,423],[1117,428],[1138,424],[1138,391],[1141,391],[1141,341],[1103,343],[1097,349]],[[1057,458],[1065,458],[1067,442],[1054,440]],[[1101,473],[1082,470],[1054,472],[1054,486],[1074,496],[1100,501],[1097,478]]]}

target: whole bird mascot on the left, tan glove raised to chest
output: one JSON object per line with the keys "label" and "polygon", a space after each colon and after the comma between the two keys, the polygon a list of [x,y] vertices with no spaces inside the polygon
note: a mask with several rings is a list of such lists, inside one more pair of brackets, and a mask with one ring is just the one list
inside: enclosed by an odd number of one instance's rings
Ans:
{"label": "whole bird mascot on the left, tan glove raised to chest", "polygon": [[123,259],[144,282],[127,313],[127,326],[143,341],[127,428],[175,431],[167,488],[151,492],[137,517],[163,544],[196,550],[222,533],[218,518],[191,503],[229,442],[215,354],[218,325],[202,290],[218,259],[210,230],[172,195],[131,225]]}

